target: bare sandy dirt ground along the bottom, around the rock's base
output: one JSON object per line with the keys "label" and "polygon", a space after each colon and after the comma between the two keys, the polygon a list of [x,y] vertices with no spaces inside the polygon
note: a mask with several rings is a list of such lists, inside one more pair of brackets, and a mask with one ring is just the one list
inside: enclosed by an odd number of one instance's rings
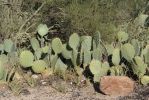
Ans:
{"label": "bare sandy dirt ground along the bottom, around the rock's base", "polygon": [[41,81],[34,88],[25,87],[20,95],[10,89],[0,89],[0,100],[149,100],[149,87],[137,85],[128,96],[107,96],[98,92],[92,84],[76,86],[63,80]]}

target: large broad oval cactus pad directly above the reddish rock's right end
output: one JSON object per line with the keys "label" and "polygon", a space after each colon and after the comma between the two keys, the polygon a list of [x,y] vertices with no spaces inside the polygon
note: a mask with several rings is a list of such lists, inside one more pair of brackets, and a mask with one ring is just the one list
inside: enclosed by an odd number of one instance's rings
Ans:
{"label": "large broad oval cactus pad directly above the reddish rock's right end", "polygon": [[121,48],[122,56],[127,59],[128,61],[131,61],[132,58],[135,56],[135,49],[130,43],[126,43]]}

